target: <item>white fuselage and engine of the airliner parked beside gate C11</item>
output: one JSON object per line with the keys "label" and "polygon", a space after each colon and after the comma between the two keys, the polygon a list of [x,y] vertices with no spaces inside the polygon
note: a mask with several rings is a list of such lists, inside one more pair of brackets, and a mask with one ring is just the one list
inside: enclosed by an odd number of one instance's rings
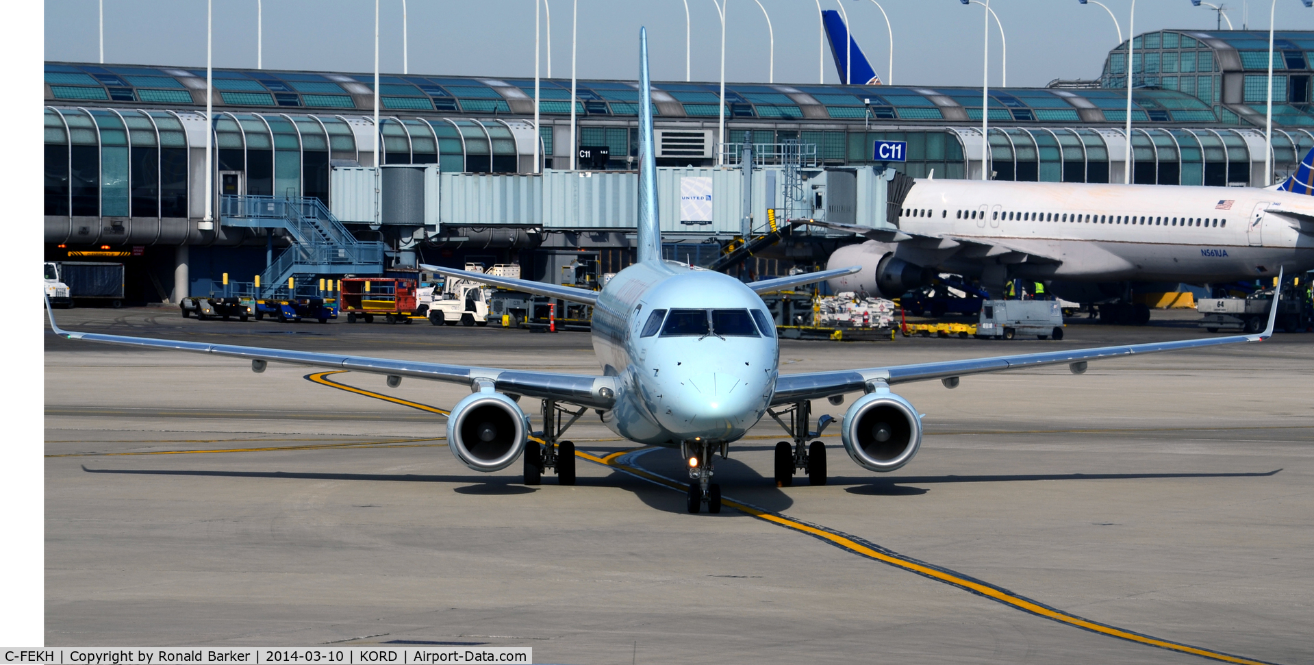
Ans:
{"label": "white fuselage and engine of the airliner parked beside gate C11", "polygon": [[878,293],[875,262],[890,252],[971,276],[1004,267],[996,280],[1265,277],[1314,268],[1302,218],[1314,219],[1314,197],[1257,188],[918,179],[897,221],[913,238],[837,250],[830,265],[863,271],[832,287]]}

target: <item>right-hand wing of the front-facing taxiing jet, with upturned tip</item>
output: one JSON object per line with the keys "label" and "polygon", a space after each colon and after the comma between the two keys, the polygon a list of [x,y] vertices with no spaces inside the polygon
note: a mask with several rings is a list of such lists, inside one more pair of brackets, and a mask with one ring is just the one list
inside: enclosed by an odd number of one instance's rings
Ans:
{"label": "right-hand wing of the front-facing taxiing jet, with upturned tip", "polygon": [[[1281,279],[1281,272],[1279,272]],[[1075,373],[1085,371],[1085,363],[1108,357],[1131,356],[1139,354],[1159,354],[1164,351],[1185,351],[1189,348],[1214,347],[1263,342],[1273,335],[1277,319],[1277,296],[1268,313],[1268,327],[1257,335],[1230,335],[1208,339],[1184,339],[1179,342],[1151,342],[1147,344],[1125,344],[1113,347],[1077,348],[1072,351],[1051,351],[1043,354],[1021,354],[1013,356],[975,357],[968,360],[949,360],[943,363],[917,363],[912,365],[872,367],[867,369],[841,369],[834,372],[812,372],[803,375],[782,375],[775,382],[775,396],[771,405],[817,400],[842,393],[866,390],[869,384],[905,384],[930,378],[954,378],[968,375],[1005,372],[1031,367],[1070,364]]]}

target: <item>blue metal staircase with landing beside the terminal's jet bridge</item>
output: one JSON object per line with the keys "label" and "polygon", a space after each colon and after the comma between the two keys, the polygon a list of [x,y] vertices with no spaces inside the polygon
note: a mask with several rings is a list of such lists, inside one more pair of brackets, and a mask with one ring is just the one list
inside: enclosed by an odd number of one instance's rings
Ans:
{"label": "blue metal staircase with landing beside the terminal's jet bridge", "polygon": [[226,195],[219,223],[244,229],[283,229],[292,246],[260,273],[260,294],[288,277],[317,275],[381,275],[384,243],[357,241],[315,197]]}

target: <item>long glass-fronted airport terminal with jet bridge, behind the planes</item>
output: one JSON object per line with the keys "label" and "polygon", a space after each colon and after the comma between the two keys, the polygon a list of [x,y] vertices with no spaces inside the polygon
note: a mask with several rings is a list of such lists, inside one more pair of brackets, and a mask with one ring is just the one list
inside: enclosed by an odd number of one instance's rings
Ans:
{"label": "long glass-fronted airport terminal with jet bridge, behind the planes", "polygon": [[[1314,149],[1314,33],[1276,35],[1271,146],[1267,33],[1166,30],[1137,37],[1133,47],[1131,164],[1123,159],[1126,43],[1109,53],[1099,79],[992,89],[988,109],[979,88],[728,83],[724,137],[717,83],[654,83],[671,251],[715,256],[742,233],[746,213],[758,223],[767,210],[824,217],[834,210],[820,193],[825,173],[871,171],[879,139],[908,142],[908,160],[896,168],[915,177],[979,179],[984,168],[996,180],[1118,183],[1130,168],[1134,183],[1235,187],[1271,184],[1263,181],[1268,150],[1275,177],[1285,177]],[[205,74],[46,63],[49,260],[121,260],[135,289],[129,298],[139,301],[204,294],[225,272],[263,273],[268,284],[315,267],[368,275],[417,258],[474,258],[519,260],[530,276],[556,281],[562,258],[589,255],[598,272],[628,262],[632,81],[578,81],[572,127],[570,81],[544,79],[535,127],[532,79],[385,75],[376,127],[372,74],[215,70],[209,121]],[[761,170],[750,176],[749,210],[737,200],[745,138]],[[794,143],[800,147],[787,147]],[[681,181],[690,177],[717,193],[706,219],[679,213]],[[384,256],[275,269],[276,254],[298,246],[353,251],[332,246],[350,237],[313,233],[330,219],[361,242],[382,241]],[[824,260],[811,247],[834,242],[799,242],[791,258]]]}

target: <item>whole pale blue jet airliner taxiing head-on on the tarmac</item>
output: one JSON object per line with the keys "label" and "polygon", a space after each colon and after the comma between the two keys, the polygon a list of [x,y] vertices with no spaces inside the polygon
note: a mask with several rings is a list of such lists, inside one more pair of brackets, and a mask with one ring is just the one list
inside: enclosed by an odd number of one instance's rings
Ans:
{"label": "whole pale blue jet airliner taxiing head-on on the tarmac", "polygon": [[[1273,332],[1273,317],[1269,315],[1268,330],[1257,335],[781,375],[775,327],[758,294],[851,273],[857,268],[744,284],[727,275],[661,259],[644,30],[639,33],[639,43],[643,99],[639,104],[637,263],[616,273],[600,292],[424,267],[593,305],[593,344],[602,365],[600,376],[75,332],[55,323],[47,302],[50,325],[55,334],[68,339],[240,357],[250,360],[255,372],[263,372],[268,363],[290,363],[386,375],[390,386],[402,377],[466,385],[472,394],[459,401],[447,419],[452,455],[480,472],[497,472],[523,457],[526,484],[537,484],[547,468],[555,469],[562,484],[574,482],[574,446],[560,436],[576,419],[595,410],[608,428],[625,439],[681,449],[689,468],[690,513],[698,513],[704,505],[711,513],[720,511],[720,486],[711,482],[712,457],[717,452],[727,456],[729,446],[765,415],[784,426],[792,438],[792,444],[777,444],[775,482],[787,486],[796,469],[805,469],[812,484],[825,484],[825,446],[816,439],[833,419],[821,417],[816,431],[811,431],[811,400],[824,397],[841,403],[845,394],[861,393],[840,424],[844,448],[862,468],[888,472],[917,453],[922,436],[917,410],[891,392],[896,384],[940,378],[954,388],[959,377],[967,375],[1060,363],[1081,373],[1091,360],[1261,342]],[[544,431],[539,436],[544,443],[530,442],[530,418],[518,405],[522,396],[543,401]],[[565,426],[560,426],[562,421]],[[791,424],[786,426],[787,422]]]}

